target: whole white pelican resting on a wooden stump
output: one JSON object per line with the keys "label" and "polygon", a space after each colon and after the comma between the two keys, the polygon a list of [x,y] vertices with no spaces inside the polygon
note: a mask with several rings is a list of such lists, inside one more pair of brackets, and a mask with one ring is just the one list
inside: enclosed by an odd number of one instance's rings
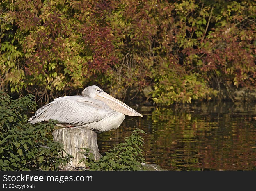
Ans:
{"label": "whole white pelican resting on a wooden stump", "polygon": [[28,122],[58,121],[61,127],[89,127],[96,132],[117,129],[125,115],[142,115],[115,99],[96,85],[86,87],[81,95],[63,96],[39,108]]}

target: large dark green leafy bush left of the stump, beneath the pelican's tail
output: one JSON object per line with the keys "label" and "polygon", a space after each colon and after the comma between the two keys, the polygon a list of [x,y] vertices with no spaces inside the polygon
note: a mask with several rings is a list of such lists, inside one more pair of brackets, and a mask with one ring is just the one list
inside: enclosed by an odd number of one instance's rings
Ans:
{"label": "large dark green leafy bush left of the stump, beneath the pelican's tail", "polygon": [[[35,110],[32,95],[11,100],[0,92],[0,170],[56,170],[69,163],[63,145],[46,138],[54,123],[32,126],[26,113]],[[65,152],[65,151],[64,151]]]}

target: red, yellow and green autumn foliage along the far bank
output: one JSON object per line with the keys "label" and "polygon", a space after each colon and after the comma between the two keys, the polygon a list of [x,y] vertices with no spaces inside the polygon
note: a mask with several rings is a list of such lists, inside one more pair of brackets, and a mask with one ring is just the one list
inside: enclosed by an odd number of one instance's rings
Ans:
{"label": "red, yellow and green autumn foliage along the far bank", "polygon": [[49,101],[151,86],[163,105],[255,88],[255,13],[255,1],[3,0],[0,88]]}

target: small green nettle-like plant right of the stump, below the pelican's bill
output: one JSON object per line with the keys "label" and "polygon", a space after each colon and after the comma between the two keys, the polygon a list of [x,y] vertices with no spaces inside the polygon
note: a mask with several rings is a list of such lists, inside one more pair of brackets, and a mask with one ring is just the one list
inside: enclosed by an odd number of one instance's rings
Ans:
{"label": "small green nettle-like plant right of the stump, below the pelican's bill", "polygon": [[90,149],[82,148],[81,152],[86,156],[79,163],[84,162],[89,170],[142,170],[142,164],[145,163],[143,158],[143,138],[140,133],[145,133],[141,129],[136,129],[129,137],[125,138],[124,143],[117,144],[105,156],[99,160],[94,160],[93,154],[89,153]]}

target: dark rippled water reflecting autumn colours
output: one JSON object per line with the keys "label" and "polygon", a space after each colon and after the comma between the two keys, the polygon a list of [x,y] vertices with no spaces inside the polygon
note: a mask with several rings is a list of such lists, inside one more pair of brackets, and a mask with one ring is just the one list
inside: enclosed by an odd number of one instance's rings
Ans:
{"label": "dark rippled water reflecting autumn colours", "polygon": [[146,162],[166,170],[256,170],[256,103],[136,110],[142,118],[126,116],[117,130],[97,133],[101,153],[140,128]]}

